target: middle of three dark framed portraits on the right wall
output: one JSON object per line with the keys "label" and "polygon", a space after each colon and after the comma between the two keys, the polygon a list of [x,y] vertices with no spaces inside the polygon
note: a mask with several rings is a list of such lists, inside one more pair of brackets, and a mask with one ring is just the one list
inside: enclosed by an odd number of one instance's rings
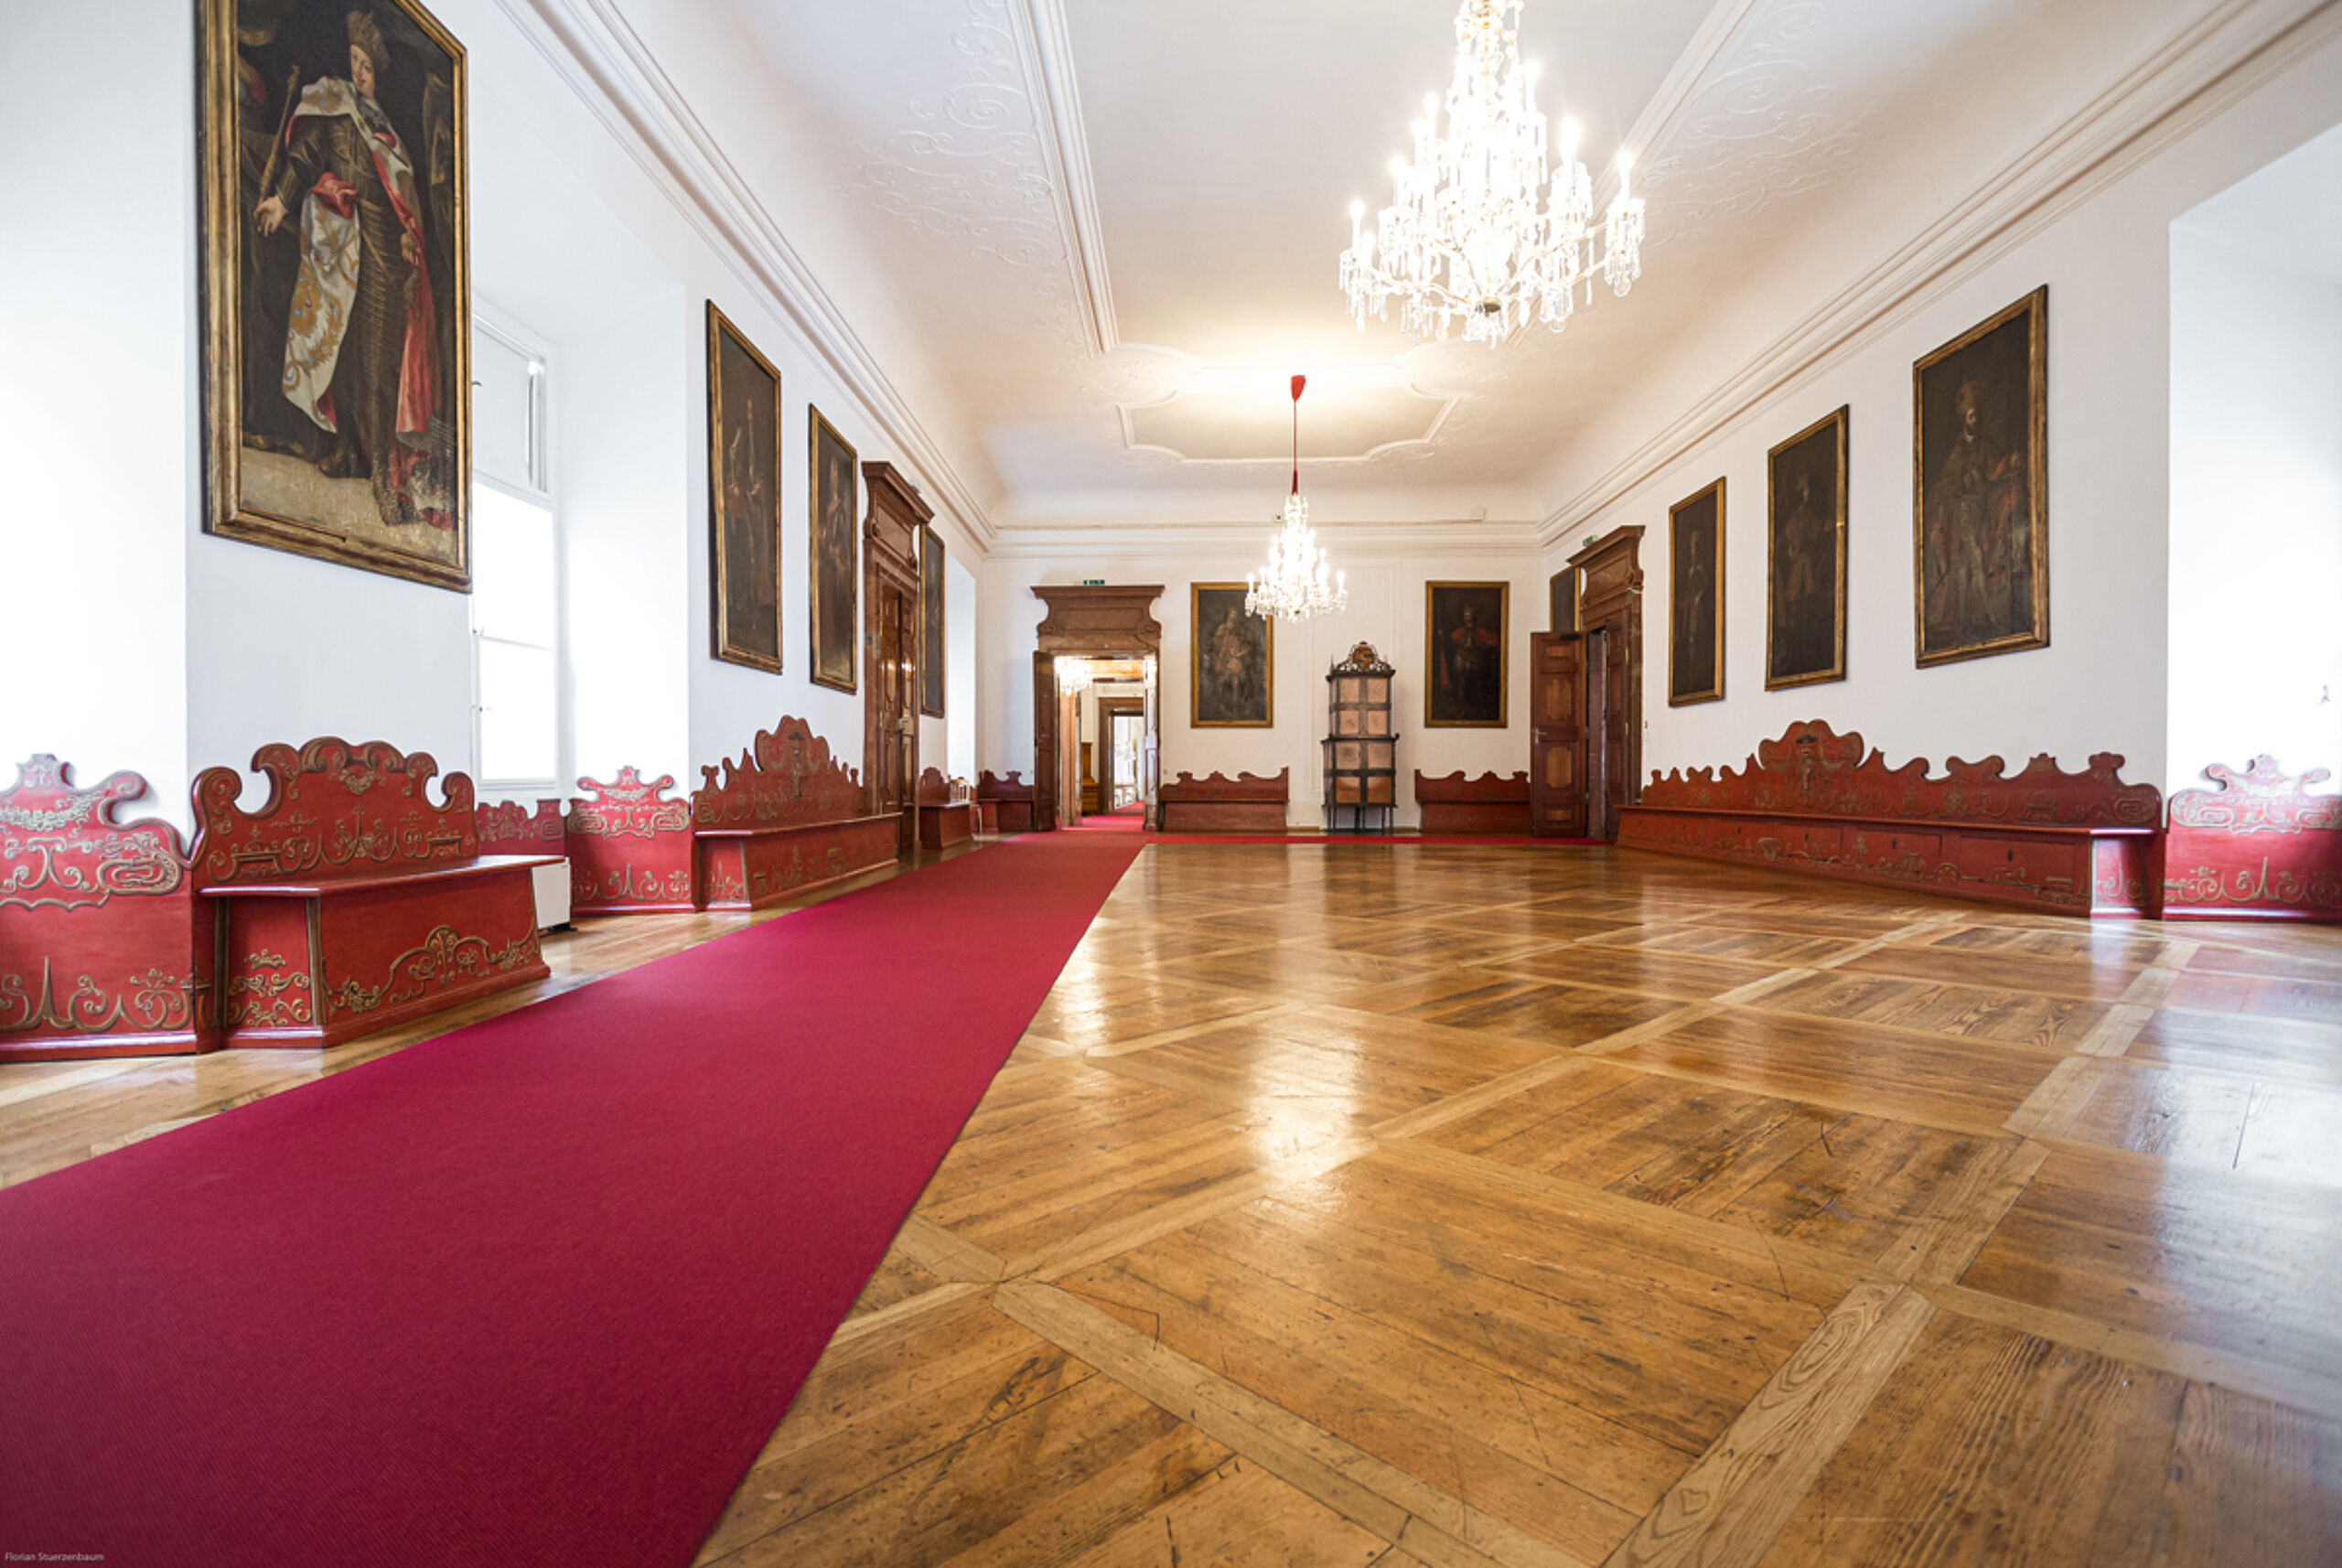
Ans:
{"label": "middle of three dark framed portraits on the right wall", "polygon": [[1841,407],[1766,454],[1766,690],[1845,679],[1848,419]]}

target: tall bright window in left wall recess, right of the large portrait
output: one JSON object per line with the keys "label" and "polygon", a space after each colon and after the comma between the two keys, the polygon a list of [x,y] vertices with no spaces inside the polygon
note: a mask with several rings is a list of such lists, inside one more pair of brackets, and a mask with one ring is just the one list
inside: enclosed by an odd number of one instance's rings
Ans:
{"label": "tall bright window in left wall recess, right of the large portrait", "polygon": [[482,798],[560,793],[560,613],[546,363],[473,323],[471,646]]}

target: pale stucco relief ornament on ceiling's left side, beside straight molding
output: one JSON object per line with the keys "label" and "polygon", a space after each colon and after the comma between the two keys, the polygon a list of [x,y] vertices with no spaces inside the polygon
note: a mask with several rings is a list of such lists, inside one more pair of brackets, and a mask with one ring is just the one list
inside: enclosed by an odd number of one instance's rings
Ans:
{"label": "pale stucco relief ornament on ceiling's left side, beside straight molding", "polygon": [[1009,5],[967,0],[967,21],[951,33],[965,80],[909,103],[913,124],[876,143],[855,138],[862,164],[850,190],[965,255],[1014,267],[1059,307],[1052,325],[1070,328],[1068,243]]}

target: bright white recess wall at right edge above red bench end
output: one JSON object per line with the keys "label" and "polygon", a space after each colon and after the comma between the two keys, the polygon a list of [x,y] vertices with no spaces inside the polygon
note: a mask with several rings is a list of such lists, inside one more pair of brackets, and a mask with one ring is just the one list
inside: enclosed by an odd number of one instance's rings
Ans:
{"label": "bright white recess wall at right edge above red bench end", "polygon": [[2171,227],[2171,789],[2342,772],[2342,281],[2265,255]]}

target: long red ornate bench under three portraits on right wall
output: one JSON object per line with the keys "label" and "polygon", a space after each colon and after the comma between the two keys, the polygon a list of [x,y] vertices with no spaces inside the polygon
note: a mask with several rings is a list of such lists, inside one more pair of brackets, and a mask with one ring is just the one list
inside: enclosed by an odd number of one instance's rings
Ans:
{"label": "long red ornate bench under three portraits on right wall", "polygon": [[1740,772],[1651,775],[1618,814],[1618,843],[2063,915],[2145,915],[2162,793],[2124,784],[2101,751],[2084,772],[2035,756],[1888,768],[1860,735],[1792,723]]}

